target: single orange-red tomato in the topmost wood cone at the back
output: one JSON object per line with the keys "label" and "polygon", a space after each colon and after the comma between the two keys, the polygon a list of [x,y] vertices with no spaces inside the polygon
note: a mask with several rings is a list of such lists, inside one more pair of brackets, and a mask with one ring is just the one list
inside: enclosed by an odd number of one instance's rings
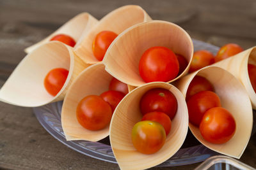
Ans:
{"label": "single orange-red tomato in the topmost wood cone at the back", "polygon": [[118,34],[112,31],[101,31],[97,34],[92,43],[92,51],[96,59],[103,60],[109,45],[117,36]]}

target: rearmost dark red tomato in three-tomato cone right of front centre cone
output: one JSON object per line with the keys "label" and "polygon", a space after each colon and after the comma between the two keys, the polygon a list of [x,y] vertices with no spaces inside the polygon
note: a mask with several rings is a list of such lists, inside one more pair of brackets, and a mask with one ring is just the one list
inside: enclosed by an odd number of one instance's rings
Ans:
{"label": "rearmost dark red tomato in three-tomato cone right of front centre cone", "polygon": [[195,76],[191,83],[189,84],[187,94],[186,94],[186,101],[193,96],[194,94],[201,92],[201,91],[212,91],[214,92],[214,87],[210,81],[202,76]]}

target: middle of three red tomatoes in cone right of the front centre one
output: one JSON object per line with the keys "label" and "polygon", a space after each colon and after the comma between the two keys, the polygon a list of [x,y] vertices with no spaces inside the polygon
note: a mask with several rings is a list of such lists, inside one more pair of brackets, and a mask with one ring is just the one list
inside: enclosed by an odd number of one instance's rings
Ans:
{"label": "middle of three red tomatoes in cone right of the front centre one", "polygon": [[201,91],[191,96],[187,102],[189,122],[199,127],[205,111],[220,107],[220,97],[211,91]]}

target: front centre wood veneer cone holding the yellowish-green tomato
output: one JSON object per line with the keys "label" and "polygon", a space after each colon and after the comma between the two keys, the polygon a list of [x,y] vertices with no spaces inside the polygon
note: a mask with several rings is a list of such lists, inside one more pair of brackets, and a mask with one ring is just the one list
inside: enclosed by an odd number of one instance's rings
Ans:
{"label": "front centre wood veneer cone holding the yellowish-green tomato", "polygon": [[[170,90],[177,99],[178,109],[163,148],[147,155],[134,148],[131,135],[132,127],[142,118],[140,99],[145,92],[154,88]],[[172,157],[184,143],[187,132],[188,109],[180,91],[168,83],[153,82],[132,90],[118,104],[111,120],[109,139],[120,169],[147,169]]]}

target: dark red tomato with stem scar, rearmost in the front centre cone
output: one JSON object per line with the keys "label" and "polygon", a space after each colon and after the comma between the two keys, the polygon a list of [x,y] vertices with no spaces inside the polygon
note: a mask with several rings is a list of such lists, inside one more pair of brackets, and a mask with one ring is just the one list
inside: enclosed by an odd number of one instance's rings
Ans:
{"label": "dark red tomato with stem scar, rearmost in the front centre cone", "polygon": [[161,111],[171,120],[177,112],[177,99],[166,89],[148,90],[140,99],[140,110],[143,115],[152,111]]}

